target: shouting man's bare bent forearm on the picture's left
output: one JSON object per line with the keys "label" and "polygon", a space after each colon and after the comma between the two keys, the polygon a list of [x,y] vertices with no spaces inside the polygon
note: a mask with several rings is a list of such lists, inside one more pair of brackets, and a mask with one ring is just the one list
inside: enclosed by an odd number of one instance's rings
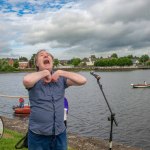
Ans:
{"label": "shouting man's bare bent forearm on the picture's left", "polygon": [[26,88],[31,88],[35,85],[36,82],[38,82],[40,79],[48,76],[49,74],[50,73],[48,70],[43,70],[43,71],[27,74],[23,78],[23,84]]}

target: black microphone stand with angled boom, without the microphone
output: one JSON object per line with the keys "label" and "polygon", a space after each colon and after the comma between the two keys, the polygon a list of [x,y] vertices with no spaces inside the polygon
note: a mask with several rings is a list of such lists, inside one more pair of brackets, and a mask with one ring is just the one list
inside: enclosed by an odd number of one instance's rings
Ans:
{"label": "black microphone stand with angled boom, without the microphone", "polygon": [[110,107],[110,105],[109,105],[109,103],[107,101],[107,98],[106,98],[105,93],[103,91],[102,84],[99,81],[100,78],[96,78],[96,79],[97,79],[97,83],[99,85],[99,88],[100,88],[100,90],[101,90],[101,92],[103,94],[103,97],[104,97],[104,99],[106,101],[106,104],[107,104],[107,106],[109,108],[109,111],[110,111],[110,114],[111,114],[110,117],[108,117],[108,121],[110,121],[110,123],[111,123],[110,136],[109,136],[109,150],[111,150],[112,149],[112,138],[113,138],[113,135],[112,135],[113,134],[113,123],[115,123],[116,126],[118,126],[118,123],[117,123],[117,121],[115,119],[115,113],[112,112],[111,107]]}

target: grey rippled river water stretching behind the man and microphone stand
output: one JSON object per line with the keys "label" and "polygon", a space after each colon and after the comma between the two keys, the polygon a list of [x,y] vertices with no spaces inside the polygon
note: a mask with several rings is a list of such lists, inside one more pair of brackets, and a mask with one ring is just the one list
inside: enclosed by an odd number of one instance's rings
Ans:
{"label": "grey rippled river water stretching behind the man and microphone stand", "polygon": [[[87,84],[66,89],[69,100],[68,132],[109,139],[110,112],[97,84],[89,72],[79,72]],[[133,89],[131,83],[150,83],[150,70],[96,72],[101,76],[106,98],[116,114],[113,141],[150,149],[150,89]],[[27,95],[22,79],[26,73],[0,74],[0,94]],[[28,100],[26,99],[28,102]],[[18,99],[0,97],[0,115],[13,118],[12,106]]]}

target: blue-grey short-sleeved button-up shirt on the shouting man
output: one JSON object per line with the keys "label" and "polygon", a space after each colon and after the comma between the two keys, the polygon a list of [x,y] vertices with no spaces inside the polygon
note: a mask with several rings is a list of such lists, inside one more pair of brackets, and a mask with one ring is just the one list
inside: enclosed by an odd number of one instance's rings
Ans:
{"label": "blue-grey short-sleeved button-up shirt on the shouting man", "polygon": [[65,130],[64,94],[66,78],[44,84],[39,80],[29,89],[31,113],[29,129],[42,135],[58,135]]}

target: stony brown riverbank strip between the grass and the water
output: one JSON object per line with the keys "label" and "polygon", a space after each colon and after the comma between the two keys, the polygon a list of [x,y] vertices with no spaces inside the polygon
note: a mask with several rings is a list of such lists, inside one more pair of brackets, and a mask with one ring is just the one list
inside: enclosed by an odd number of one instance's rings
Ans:
{"label": "stony brown riverbank strip between the grass and the water", "polygon": [[[4,127],[25,134],[28,129],[28,121],[23,119],[10,119],[3,117]],[[74,150],[107,150],[108,141],[93,138],[93,137],[81,137],[75,134],[68,134],[69,146]],[[114,150],[142,150],[140,148],[134,148],[131,146],[125,146],[119,143],[113,143]]]}

